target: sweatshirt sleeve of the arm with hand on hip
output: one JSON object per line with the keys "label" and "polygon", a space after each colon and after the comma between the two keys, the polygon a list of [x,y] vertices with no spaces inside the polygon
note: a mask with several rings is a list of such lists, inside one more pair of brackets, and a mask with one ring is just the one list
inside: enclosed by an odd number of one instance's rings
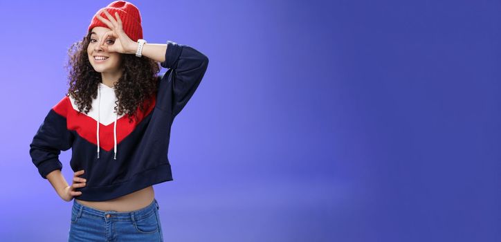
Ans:
{"label": "sweatshirt sleeve of the arm with hand on hip", "polygon": [[66,96],[48,111],[30,144],[31,159],[44,179],[51,171],[62,170],[59,155],[73,145],[73,133],[66,129],[69,102]]}

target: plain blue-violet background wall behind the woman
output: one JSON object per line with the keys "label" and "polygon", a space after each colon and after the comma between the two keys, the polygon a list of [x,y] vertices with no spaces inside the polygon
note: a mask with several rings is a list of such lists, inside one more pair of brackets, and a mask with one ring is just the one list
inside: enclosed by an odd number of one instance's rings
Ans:
{"label": "plain blue-violet background wall behind the woman", "polygon": [[[0,1],[2,241],[67,238],[28,149],[109,2]],[[500,1],[132,3],[210,58],[154,186],[166,241],[501,241]]]}

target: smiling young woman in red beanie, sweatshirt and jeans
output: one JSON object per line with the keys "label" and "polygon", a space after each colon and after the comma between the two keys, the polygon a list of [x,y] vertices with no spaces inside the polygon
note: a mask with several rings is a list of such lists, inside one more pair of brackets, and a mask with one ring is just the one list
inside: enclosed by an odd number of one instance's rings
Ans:
{"label": "smiling young woman in red beanie, sweatshirt and jeans", "polygon": [[[75,198],[69,241],[163,241],[152,185],[173,180],[170,127],[208,57],[174,41],[147,43],[127,1],[100,9],[69,53],[68,93],[30,144],[42,178],[64,201]],[[168,68],[163,75],[158,62]],[[68,185],[58,157],[70,148]]]}

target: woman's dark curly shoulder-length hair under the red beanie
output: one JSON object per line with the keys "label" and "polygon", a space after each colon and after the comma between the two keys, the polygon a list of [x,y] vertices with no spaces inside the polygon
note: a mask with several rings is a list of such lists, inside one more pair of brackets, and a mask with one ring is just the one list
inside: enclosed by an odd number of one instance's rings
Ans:
{"label": "woman's dark curly shoulder-length hair under the red beanie", "polygon": [[[89,113],[92,99],[98,95],[101,73],[94,70],[89,62],[87,46],[91,39],[91,31],[81,40],[73,43],[68,50],[69,61],[65,68],[69,71],[69,89],[66,96],[75,99],[79,113]],[[115,84],[115,94],[118,104],[114,110],[118,115],[127,113],[129,122],[136,117],[139,108],[145,110],[145,101],[158,90],[157,73],[160,71],[158,62],[148,57],[138,58],[136,55],[122,54],[122,76]],[[137,117],[136,117],[137,118]]]}

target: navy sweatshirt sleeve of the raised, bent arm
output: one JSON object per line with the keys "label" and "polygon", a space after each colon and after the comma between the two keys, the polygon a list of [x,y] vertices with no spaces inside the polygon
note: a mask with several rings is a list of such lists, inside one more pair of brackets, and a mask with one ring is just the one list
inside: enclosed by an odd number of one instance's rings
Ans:
{"label": "navy sweatshirt sleeve of the raised, bent arm", "polygon": [[[172,103],[169,109],[174,117],[181,112],[199,86],[208,63],[208,57],[191,46],[167,41],[165,62],[161,62],[161,66],[170,70],[163,75],[161,82],[163,86],[168,84],[166,89],[172,93],[172,100],[168,103]],[[159,101],[167,103],[167,100]]]}

